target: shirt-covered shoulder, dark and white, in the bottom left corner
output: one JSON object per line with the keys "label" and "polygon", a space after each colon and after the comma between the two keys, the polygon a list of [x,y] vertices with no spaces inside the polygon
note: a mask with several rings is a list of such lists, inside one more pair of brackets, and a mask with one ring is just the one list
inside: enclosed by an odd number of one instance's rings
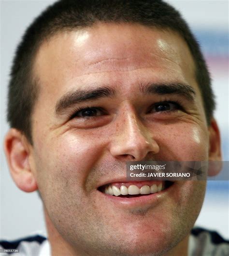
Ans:
{"label": "shirt-covered shoulder, dark and white, in the bottom left corner", "polygon": [[[47,238],[41,235],[28,236],[17,240],[0,240],[1,256],[39,256],[41,246]],[[4,252],[5,250],[5,252]],[[20,252],[18,254],[17,252]]]}

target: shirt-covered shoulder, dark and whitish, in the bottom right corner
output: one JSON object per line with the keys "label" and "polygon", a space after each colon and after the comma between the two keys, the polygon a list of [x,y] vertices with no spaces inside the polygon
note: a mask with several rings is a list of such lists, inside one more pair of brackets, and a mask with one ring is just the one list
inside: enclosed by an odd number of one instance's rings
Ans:
{"label": "shirt-covered shoulder, dark and whitish, in the bottom right corner", "polygon": [[189,238],[189,256],[228,256],[229,240],[216,231],[195,227]]}

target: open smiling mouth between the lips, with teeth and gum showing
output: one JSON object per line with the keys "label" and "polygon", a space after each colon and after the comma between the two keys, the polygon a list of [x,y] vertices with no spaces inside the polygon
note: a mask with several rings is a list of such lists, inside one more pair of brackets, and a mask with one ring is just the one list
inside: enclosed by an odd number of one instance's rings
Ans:
{"label": "open smiling mouth between the lips, with teeth and gum showing", "polygon": [[168,190],[173,183],[166,180],[111,182],[100,186],[98,190],[108,196],[131,199]]}

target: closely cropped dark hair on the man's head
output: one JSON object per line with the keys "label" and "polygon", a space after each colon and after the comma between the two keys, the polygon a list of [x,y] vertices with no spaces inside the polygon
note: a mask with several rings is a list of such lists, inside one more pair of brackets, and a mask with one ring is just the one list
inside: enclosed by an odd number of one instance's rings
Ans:
{"label": "closely cropped dark hair on the man's head", "polygon": [[32,22],[17,47],[8,93],[7,119],[11,127],[23,132],[32,144],[31,113],[39,93],[32,70],[43,41],[57,32],[90,27],[97,22],[137,23],[178,32],[193,56],[196,80],[210,124],[215,99],[207,65],[186,21],[171,5],[162,0],[59,0]]}

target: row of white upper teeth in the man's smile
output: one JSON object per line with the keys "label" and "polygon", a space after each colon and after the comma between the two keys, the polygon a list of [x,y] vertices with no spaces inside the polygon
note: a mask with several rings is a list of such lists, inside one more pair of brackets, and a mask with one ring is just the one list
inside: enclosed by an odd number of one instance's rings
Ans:
{"label": "row of white upper teeth in the man's smile", "polygon": [[135,194],[150,194],[150,193],[157,193],[160,192],[164,189],[164,186],[162,186],[162,183],[159,183],[158,185],[153,184],[151,187],[149,187],[148,185],[144,185],[141,187],[141,189],[139,189],[136,185],[130,185],[129,188],[127,188],[126,186],[122,185],[119,188],[117,188],[116,186],[106,186],[105,187],[105,194],[110,194],[110,195],[115,195],[115,196],[119,196],[121,195],[135,195]]}

